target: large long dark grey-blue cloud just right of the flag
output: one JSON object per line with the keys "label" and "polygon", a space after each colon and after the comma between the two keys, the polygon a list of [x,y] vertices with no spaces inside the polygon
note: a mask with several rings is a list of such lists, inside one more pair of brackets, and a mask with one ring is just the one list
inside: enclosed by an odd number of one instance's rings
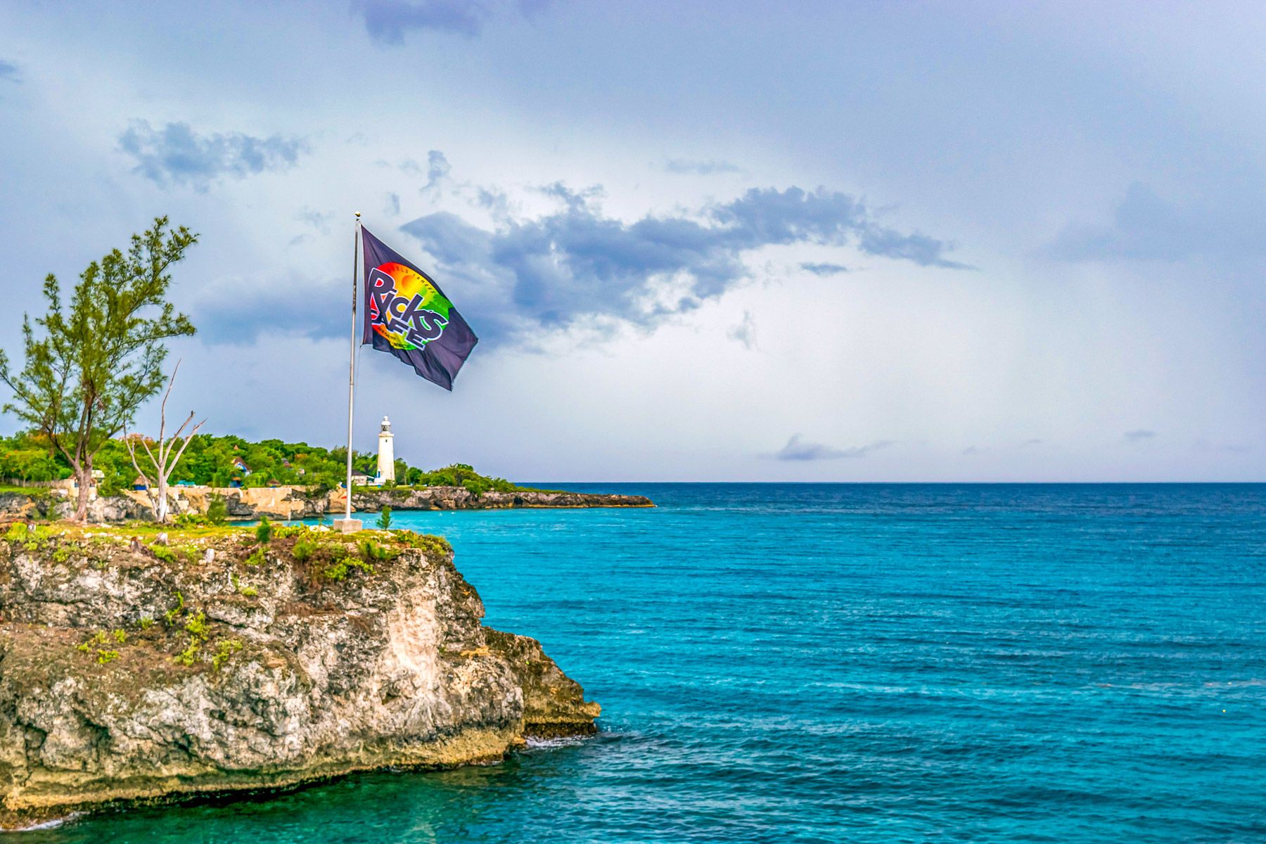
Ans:
{"label": "large long dark grey-blue cloud just right of the flag", "polygon": [[653,328],[748,278],[743,256],[770,245],[853,244],[867,254],[961,268],[951,245],[880,224],[860,200],[837,191],[752,189],[695,213],[632,223],[598,206],[600,189],[542,189],[562,208],[536,219],[481,228],[447,211],[400,228],[461,282],[462,313],[480,337],[566,329],[598,320]]}

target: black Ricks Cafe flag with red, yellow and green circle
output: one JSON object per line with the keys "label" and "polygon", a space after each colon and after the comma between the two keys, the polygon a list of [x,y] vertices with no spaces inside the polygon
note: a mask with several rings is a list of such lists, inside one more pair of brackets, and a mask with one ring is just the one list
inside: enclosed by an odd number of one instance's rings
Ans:
{"label": "black Ricks Cafe flag with red, yellow and green circle", "polygon": [[434,280],[361,228],[365,248],[365,337],[444,390],[479,338]]}

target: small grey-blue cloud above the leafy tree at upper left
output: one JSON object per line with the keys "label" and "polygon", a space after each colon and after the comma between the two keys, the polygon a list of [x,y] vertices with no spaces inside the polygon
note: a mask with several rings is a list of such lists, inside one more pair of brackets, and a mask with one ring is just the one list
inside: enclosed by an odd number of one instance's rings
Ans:
{"label": "small grey-blue cloud above the leafy tree at upper left", "polygon": [[223,177],[246,178],[287,170],[308,151],[308,142],[280,134],[256,138],[241,132],[200,135],[187,123],[154,128],[147,120],[133,120],[119,135],[119,148],[137,159],[134,172],[154,183],[190,185],[205,191]]}

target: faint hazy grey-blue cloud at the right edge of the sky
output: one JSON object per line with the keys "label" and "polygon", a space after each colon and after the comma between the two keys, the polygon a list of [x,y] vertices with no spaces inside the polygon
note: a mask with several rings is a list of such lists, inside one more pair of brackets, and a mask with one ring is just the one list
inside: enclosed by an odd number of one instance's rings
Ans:
{"label": "faint hazy grey-blue cloud at the right edge of the sky", "polygon": [[1046,253],[1058,261],[1185,261],[1196,256],[1229,259],[1260,256],[1266,248],[1263,210],[1236,196],[1182,206],[1134,182],[1106,224],[1065,228]]}

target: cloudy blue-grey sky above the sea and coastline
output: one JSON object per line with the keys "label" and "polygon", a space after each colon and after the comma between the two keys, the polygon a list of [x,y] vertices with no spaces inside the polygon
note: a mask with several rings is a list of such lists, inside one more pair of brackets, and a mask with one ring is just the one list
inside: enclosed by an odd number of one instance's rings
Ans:
{"label": "cloudy blue-grey sky above the sea and coastline", "polygon": [[451,394],[360,352],[361,449],[1266,481],[1262,43],[1215,1],[10,0],[0,348],[168,215],[179,415],[338,445],[360,211],[481,339]]}

